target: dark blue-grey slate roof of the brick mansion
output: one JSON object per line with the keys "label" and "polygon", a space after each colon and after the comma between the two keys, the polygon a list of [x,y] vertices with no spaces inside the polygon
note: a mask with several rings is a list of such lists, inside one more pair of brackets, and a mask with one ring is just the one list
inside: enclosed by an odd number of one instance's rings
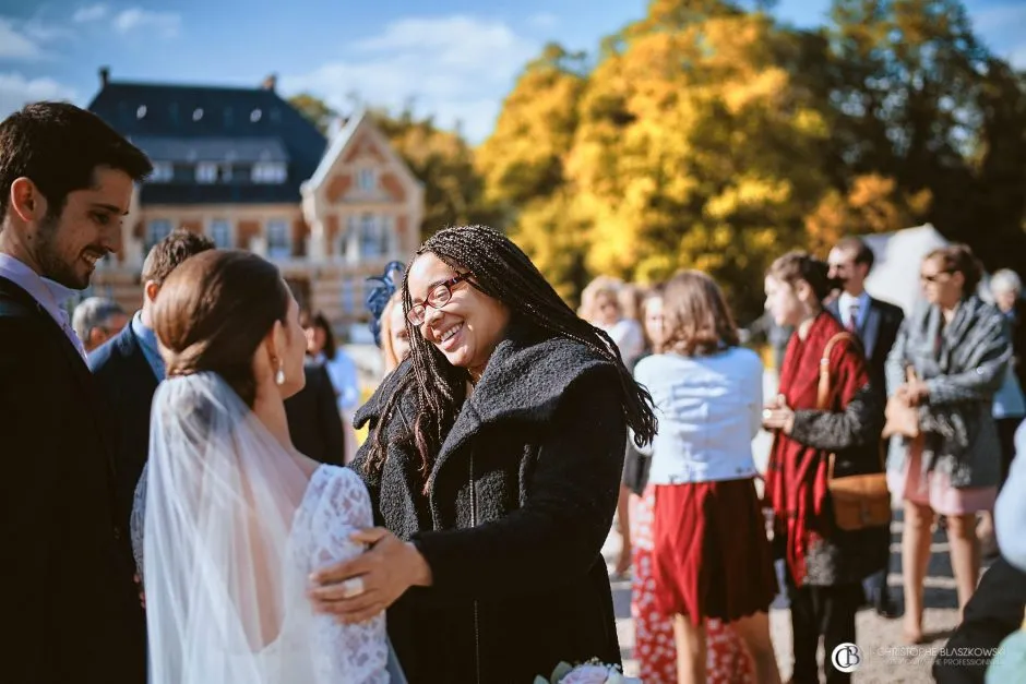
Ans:
{"label": "dark blue-grey slate roof of the brick mansion", "polygon": [[288,164],[288,178],[281,184],[144,183],[143,204],[298,204],[299,187],[317,170],[327,145],[299,111],[263,87],[107,81],[88,109],[153,155],[176,159],[192,149],[226,160],[230,153],[246,161],[267,153],[277,158],[266,160]]}

